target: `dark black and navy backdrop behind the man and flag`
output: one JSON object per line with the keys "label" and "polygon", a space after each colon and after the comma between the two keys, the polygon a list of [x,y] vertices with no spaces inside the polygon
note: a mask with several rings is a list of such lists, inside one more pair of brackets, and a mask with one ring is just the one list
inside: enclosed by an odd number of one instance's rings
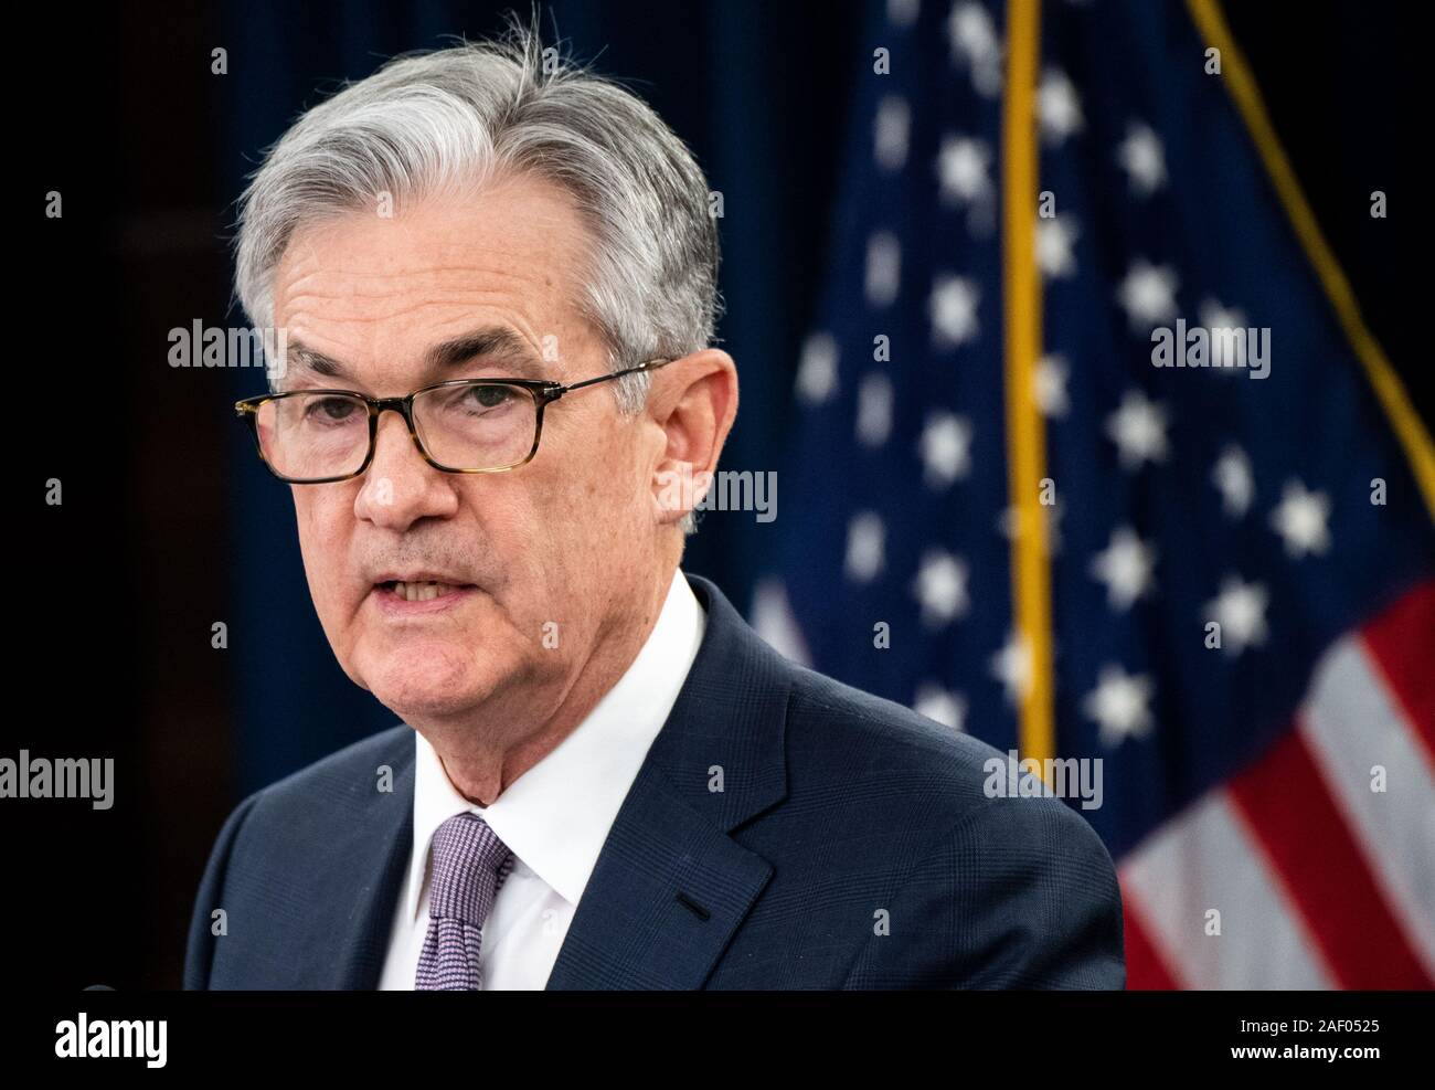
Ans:
{"label": "dark black and navy backdrop behind the man and flag", "polygon": [[[29,10],[33,24],[14,30],[11,67],[33,72],[9,103],[24,224],[10,330],[33,348],[10,356],[6,408],[23,425],[7,429],[24,465],[19,490],[39,511],[19,520],[37,536],[14,537],[20,699],[0,754],[113,757],[118,787],[108,811],[0,803],[11,981],[178,987],[199,873],[238,798],[395,721],[340,674],[309,605],[288,493],[232,419],[231,402],[261,392],[261,375],[175,371],[166,335],[195,319],[243,320],[230,303],[232,201],[297,111],[396,52],[488,36],[505,7],[235,0],[86,13],[83,27],[59,9]],[[862,7],[544,9],[545,39],[557,19],[580,57],[597,56],[653,103],[725,194],[719,343],[743,389],[725,468],[778,460],[848,92],[870,63],[854,52]],[[1408,10],[1233,1],[1227,17],[1369,326],[1429,421],[1396,271],[1413,264],[1401,260],[1413,240],[1398,224],[1419,200],[1402,191],[1398,157],[1424,142],[1409,132],[1416,103],[1396,60],[1416,33]],[[211,75],[215,47],[228,50],[228,75]],[[52,190],[62,220],[43,215]],[[1372,190],[1389,194],[1389,220],[1370,220]],[[62,507],[40,500],[52,477]],[[684,567],[746,605],[761,530],[713,520]],[[283,639],[245,642],[274,602],[293,618]],[[215,620],[230,625],[228,651],[210,645]]]}

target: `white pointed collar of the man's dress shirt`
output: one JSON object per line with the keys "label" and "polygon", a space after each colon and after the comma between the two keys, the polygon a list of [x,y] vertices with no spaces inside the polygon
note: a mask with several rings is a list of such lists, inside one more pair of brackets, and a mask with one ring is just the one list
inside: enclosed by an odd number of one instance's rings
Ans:
{"label": "white pointed collar of the man's dress shirt", "polygon": [[577,905],[643,758],[667,721],[703,642],[706,616],[683,570],[637,658],[547,757],[491,806],[459,794],[428,738],[415,731],[413,852],[405,919],[418,919],[433,833],[453,814],[484,817],[512,853]]}

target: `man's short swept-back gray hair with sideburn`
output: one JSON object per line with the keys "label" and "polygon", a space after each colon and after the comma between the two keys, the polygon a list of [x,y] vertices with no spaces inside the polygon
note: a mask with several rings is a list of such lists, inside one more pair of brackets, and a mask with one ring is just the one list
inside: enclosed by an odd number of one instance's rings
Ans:
{"label": "man's short swept-back gray hair with sideburn", "polygon": [[[255,327],[274,326],[274,270],[304,224],[508,172],[561,185],[591,231],[575,304],[610,369],[712,343],[723,303],[707,180],[646,102],[544,49],[537,13],[532,27],[509,16],[495,40],[395,57],[309,109],[240,198],[240,303]],[[649,375],[614,385],[624,414],[643,408]]]}

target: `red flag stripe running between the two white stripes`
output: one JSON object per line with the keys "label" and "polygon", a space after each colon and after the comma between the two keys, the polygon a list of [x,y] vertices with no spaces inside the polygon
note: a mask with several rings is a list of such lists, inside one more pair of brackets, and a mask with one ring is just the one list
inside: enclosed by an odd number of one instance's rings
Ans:
{"label": "red flag stripe running between the two white stripes", "polygon": [[1302,732],[1283,735],[1228,790],[1343,987],[1431,984]]}

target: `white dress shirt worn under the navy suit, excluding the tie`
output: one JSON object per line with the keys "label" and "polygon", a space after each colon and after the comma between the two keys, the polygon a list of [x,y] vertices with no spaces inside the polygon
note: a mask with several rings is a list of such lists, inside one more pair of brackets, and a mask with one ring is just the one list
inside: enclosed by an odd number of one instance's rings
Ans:
{"label": "white dress shirt worn under the navy suit, excluding the tie", "polygon": [[484,988],[547,985],[603,842],[677,701],[705,628],[702,603],[677,569],[633,665],[588,717],[492,806],[475,806],[459,794],[438,753],[413,732],[413,846],[380,989],[413,988],[429,929],[429,847],[435,830],[465,810],[481,814],[515,856],[484,923]]}

